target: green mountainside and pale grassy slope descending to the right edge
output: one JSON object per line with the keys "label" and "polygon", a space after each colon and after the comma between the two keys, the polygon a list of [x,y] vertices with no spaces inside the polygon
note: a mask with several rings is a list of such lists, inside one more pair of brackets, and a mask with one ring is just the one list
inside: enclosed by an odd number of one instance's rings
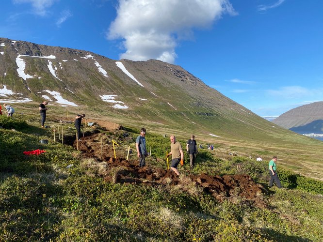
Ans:
{"label": "green mountainside and pale grassy slope descending to the right edge", "polygon": [[[53,121],[86,113],[88,119],[145,126],[150,132],[175,134],[183,140],[193,133],[201,142],[246,157],[262,155],[269,160],[278,155],[283,167],[323,180],[321,141],[262,119],[180,66],[156,60],[115,61],[85,50],[0,41],[4,43],[0,93],[5,88],[12,91],[2,94],[1,100],[14,102],[16,113],[39,117],[38,105],[46,98],[50,100],[48,119]],[[24,61],[24,69],[17,66],[17,58]],[[115,96],[104,100],[104,95]],[[23,98],[32,101],[21,103]],[[67,101],[77,106],[64,105]]]}

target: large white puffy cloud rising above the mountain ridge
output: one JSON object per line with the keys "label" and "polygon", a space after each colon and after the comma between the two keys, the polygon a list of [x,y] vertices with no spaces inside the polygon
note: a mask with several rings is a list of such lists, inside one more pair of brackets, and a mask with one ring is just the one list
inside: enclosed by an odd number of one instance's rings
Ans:
{"label": "large white puffy cloud rising above the mountain ridge", "polygon": [[222,14],[237,15],[229,0],[119,0],[108,39],[124,39],[120,58],[173,63],[179,39],[210,28]]}

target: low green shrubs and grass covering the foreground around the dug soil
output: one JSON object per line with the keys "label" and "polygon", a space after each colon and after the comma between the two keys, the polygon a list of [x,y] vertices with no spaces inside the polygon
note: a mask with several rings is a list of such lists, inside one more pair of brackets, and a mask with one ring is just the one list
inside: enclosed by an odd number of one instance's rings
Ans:
{"label": "low green shrubs and grass covering the foreground around the dug soil", "polygon": [[[288,166],[278,168],[285,188],[268,188],[267,160],[200,150],[193,172],[250,175],[265,189],[261,196],[268,207],[258,208],[238,196],[220,202],[199,189],[188,193],[171,186],[105,182],[97,176],[94,159],[53,142],[50,129],[38,128],[32,117],[0,116],[0,126],[0,241],[323,240],[323,181],[293,173]],[[101,130],[120,137],[117,156],[126,156],[139,133],[137,128],[126,131],[132,139],[123,140],[124,131]],[[73,124],[66,124],[66,135],[74,136]],[[48,139],[48,145],[40,139]],[[146,139],[147,147],[153,147],[147,164],[165,168],[168,138],[148,132]],[[47,152],[22,153],[34,149]],[[130,159],[136,160],[134,155]],[[183,177],[184,169],[179,170]]]}

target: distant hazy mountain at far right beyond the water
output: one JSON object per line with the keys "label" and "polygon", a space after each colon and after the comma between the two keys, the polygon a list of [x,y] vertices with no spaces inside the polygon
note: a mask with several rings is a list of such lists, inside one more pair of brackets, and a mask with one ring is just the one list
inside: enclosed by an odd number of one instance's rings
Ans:
{"label": "distant hazy mountain at far right beyond the water", "polygon": [[315,102],[289,110],[273,120],[299,134],[323,133],[323,102]]}

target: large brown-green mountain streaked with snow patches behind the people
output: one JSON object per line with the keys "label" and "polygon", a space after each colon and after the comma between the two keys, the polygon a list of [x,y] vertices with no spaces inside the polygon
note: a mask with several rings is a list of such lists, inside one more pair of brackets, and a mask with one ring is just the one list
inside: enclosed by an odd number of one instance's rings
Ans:
{"label": "large brown-green mountain streaked with snow patches behind the people", "polygon": [[0,98],[27,111],[37,111],[47,99],[55,115],[85,112],[161,132],[239,140],[289,135],[180,66],[116,61],[85,50],[6,38],[0,38]]}

